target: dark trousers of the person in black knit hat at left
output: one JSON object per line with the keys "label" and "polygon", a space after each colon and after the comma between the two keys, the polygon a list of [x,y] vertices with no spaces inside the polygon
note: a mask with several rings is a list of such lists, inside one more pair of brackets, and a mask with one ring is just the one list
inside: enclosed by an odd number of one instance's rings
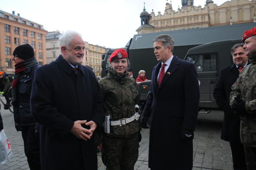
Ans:
{"label": "dark trousers of the person in black knit hat at left", "polygon": [[31,170],[40,170],[40,144],[39,139],[35,138],[35,125],[21,126],[21,135],[29,168]]}

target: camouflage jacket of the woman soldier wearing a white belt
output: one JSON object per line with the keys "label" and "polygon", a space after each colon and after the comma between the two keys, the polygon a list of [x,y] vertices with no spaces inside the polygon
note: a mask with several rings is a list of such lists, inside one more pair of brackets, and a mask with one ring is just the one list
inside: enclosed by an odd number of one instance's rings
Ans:
{"label": "camouflage jacket of the woman soldier wearing a white belt", "polygon": [[[140,94],[138,86],[128,72],[118,74],[113,68],[108,68],[108,75],[99,80],[104,101],[105,115],[110,115],[110,121],[132,117],[135,114],[134,105],[139,105]],[[110,133],[106,134],[102,128],[102,134],[111,137],[128,137],[140,129],[139,120],[133,120],[124,126],[110,125]]]}

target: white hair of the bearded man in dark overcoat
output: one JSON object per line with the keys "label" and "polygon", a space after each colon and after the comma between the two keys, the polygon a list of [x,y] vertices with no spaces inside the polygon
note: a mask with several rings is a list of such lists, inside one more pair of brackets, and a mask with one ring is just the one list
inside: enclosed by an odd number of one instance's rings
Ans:
{"label": "white hair of the bearded man in dark overcoat", "polygon": [[70,43],[73,40],[73,37],[75,35],[82,38],[82,35],[80,33],[76,32],[76,31],[71,31],[71,30],[66,31],[64,34],[59,36],[59,50],[60,50],[60,52],[61,52],[61,46],[64,46],[67,49],[69,49],[69,45],[70,45]]}

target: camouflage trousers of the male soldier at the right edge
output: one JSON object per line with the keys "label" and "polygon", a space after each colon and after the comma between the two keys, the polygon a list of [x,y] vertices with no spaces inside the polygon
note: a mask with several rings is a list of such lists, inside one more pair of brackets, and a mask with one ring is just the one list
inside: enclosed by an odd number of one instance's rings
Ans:
{"label": "camouflage trousers of the male soldier at the right edge", "polygon": [[256,169],[256,147],[244,144],[247,170]]}

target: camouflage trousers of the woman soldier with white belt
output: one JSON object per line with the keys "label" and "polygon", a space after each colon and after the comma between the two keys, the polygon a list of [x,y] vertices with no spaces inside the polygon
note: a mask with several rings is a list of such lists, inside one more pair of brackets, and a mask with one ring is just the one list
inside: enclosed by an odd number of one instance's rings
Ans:
{"label": "camouflage trousers of the woman soldier with white belt", "polygon": [[139,132],[127,138],[103,135],[101,158],[106,170],[133,170],[139,156],[138,138]]}

